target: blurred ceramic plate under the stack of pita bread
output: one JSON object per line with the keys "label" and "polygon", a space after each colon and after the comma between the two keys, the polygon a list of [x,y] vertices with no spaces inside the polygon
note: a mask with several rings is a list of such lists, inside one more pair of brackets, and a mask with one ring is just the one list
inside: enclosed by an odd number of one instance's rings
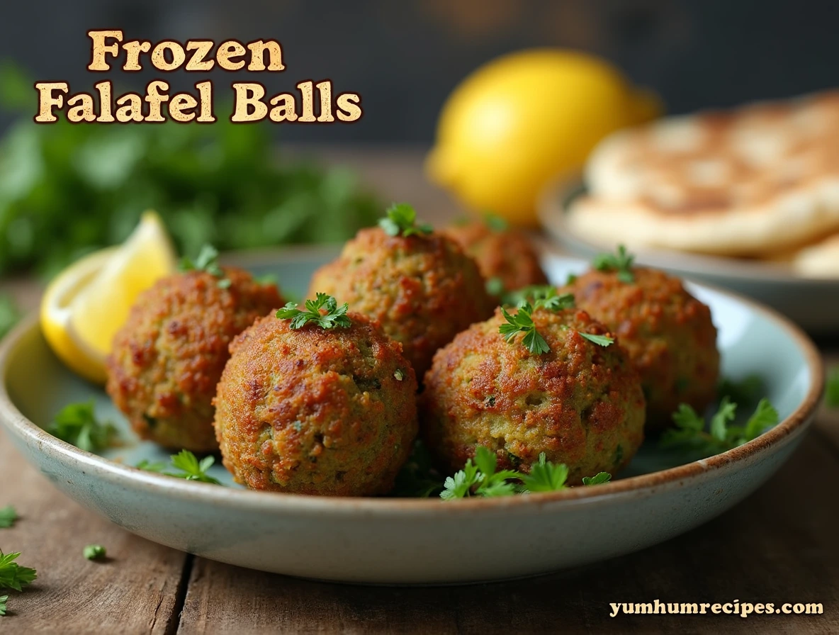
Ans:
{"label": "blurred ceramic plate under the stack of pita bread", "polygon": [[[545,191],[539,205],[543,226],[568,252],[590,260],[604,251],[571,232],[565,223],[568,206],[585,192],[580,181],[565,181]],[[606,246],[609,248],[609,246]],[[803,278],[789,264],[704,256],[666,250],[638,251],[638,263],[665,269],[684,278],[716,284],[748,295],[789,317],[813,333],[839,331],[839,278]]]}

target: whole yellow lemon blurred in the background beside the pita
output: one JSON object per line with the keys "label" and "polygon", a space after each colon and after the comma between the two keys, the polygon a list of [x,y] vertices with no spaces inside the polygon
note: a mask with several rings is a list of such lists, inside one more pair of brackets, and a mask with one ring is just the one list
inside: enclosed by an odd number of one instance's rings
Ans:
{"label": "whole yellow lemon blurred in the background beside the pita", "polygon": [[504,55],[466,77],[440,113],[426,168],[463,205],[534,225],[540,191],[581,169],[607,134],[656,117],[660,102],[612,65],[561,49]]}

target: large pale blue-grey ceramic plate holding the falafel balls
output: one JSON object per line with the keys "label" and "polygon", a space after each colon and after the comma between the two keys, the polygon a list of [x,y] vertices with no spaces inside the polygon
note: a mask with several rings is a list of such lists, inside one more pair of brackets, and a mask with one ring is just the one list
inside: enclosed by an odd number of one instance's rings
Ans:
{"label": "large pale blue-grey ceramic plate holding the falafel balls", "polygon": [[[323,252],[250,258],[284,289],[305,292]],[[581,261],[547,257],[565,280]],[[0,419],[23,455],[62,492],[144,538],[212,560],[320,580],[440,584],[498,580],[585,565],[643,549],[732,507],[776,471],[799,444],[821,397],[821,364],[810,341],[769,310],[691,285],[711,305],[724,372],[758,372],[783,421],[722,455],[679,465],[645,445],[618,480],[596,487],[508,498],[335,498],[251,492],[220,466],[217,487],[131,467],[165,453],[128,430],[100,388],[67,371],[34,318],[0,346]],[[40,426],[65,404],[93,398],[128,440],[92,455]]]}

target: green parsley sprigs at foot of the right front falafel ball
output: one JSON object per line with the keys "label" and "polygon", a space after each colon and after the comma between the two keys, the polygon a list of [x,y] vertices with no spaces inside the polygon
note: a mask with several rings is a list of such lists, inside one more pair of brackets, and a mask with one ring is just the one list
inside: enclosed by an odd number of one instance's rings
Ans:
{"label": "green parsley sprigs at foot of the right front falafel ball", "polygon": [[[530,468],[530,473],[516,470],[498,470],[498,458],[487,448],[479,445],[475,458],[466,461],[462,470],[446,478],[440,498],[450,501],[466,497],[501,497],[530,492],[556,492],[565,489],[568,467],[563,463],[547,461],[545,453],[539,455],[539,462]],[[609,481],[608,472],[583,478],[584,485],[597,485]]]}

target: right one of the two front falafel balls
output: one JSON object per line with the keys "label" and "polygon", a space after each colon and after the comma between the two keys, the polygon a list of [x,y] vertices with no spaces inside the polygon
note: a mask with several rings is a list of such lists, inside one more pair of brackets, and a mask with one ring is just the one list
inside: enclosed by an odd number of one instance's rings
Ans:
{"label": "right one of the two front falafel balls", "polygon": [[504,341],[500,309],[437,352],[420,397],[426,443],[451,471],[478,445],[499,468],[525,472],[545,452],[568,466],[572,485],[618,471],[644,440],[644,393],[627,352],[581,336],[608,334],[585,311],[537,309],[532,318],[549,352],[529,352],[521,333]]}

